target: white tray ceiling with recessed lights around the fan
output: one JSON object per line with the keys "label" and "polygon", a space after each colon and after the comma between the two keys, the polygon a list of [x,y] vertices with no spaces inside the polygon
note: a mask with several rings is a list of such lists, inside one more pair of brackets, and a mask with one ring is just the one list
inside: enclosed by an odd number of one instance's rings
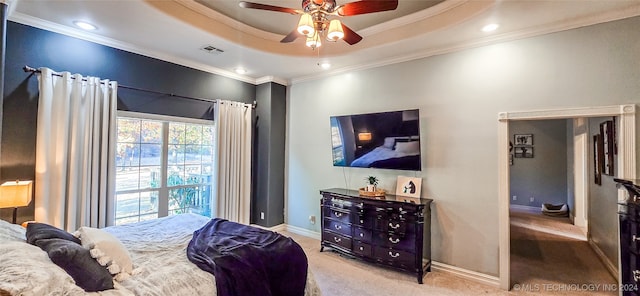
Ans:
{"label": "white tray ceiling with recessed lights around the fan", "polygon": [[[297,16],[240,8],[238,2],[14,0],[9,20],[250,83],[295,83],[640,15],[640,0],[400,0],[393,12],[342,19],[364,37],[360,43],[325,42],[314,51],[302,40],[279,42],[296,26]],[[301,1],[253,2],[299,9]],[[75,20],[93,23],[98,30],[82,31]],[[482,32],[488,23],[500,27]],[[206,45],[224,53],[201,50]],[[324,61],[331,69],[318,66]],[[248,72],[235,74],[239,66]]]}

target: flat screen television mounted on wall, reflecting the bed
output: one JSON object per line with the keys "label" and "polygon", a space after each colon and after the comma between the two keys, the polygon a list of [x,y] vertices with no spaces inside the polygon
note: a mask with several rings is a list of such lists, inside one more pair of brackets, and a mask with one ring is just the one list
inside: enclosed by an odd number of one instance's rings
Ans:
{"label": "flat screen television mounted on wall, reflecting the bed", "polygon": [[421,170],[418,109],[330,119],[334,166]]}

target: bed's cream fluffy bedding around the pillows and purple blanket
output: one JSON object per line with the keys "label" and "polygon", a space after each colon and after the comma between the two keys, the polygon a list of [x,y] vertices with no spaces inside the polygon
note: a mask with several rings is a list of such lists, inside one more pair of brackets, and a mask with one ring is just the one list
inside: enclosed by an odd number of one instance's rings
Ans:
{"label": "bed's cream fluffy bedding around the pillows and purple blanket", "polygon": [[[113,289],[85,292],[47,252],[27,243],[25,228],[0,220],[0,295],[216,295],[214,276],[186,254],[194,231],[210,221],[183,214],[103,228],[126,248],[133,269]],[[310,270],[304,295],[321,295]]]}

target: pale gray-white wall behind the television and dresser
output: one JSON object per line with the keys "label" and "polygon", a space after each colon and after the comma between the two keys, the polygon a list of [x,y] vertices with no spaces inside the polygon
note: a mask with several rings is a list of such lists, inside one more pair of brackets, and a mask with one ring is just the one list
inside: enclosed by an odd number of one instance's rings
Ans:
{"label": "pale gray-white wall behind the television and dresser", "polygon": [[633,18],[292,85],[286,222],[319,231],[308,221],[318,190],[374,174],[394,191],[407,174],[333,167],[330,116],[419,108],[433,259],[497,275],[498,112],[640,103],[637,28]]}

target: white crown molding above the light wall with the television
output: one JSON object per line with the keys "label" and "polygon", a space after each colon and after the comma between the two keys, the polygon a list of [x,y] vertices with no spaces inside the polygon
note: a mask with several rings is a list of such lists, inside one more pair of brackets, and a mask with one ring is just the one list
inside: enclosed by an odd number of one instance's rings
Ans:
{"label": "white crown molding above the light wall with the television", "polygon": [[[446,2],[447,1],[445,1],[445,3]],[[329,76],[333,76],[341,73],[378,68],[382,66],[422,59],[422,58],[435,56],[435,55],[457,52],[465,49],[476,48],[476,47],[486,46],[486,45],[500,43],[500,42],[507,42],[507,41],[531,38],[531,37],[550,34],[550,33],[567,31],[571,29],[577,29],[581,27],[587,27],[591,25],[597,25],[601,23],[607,23],[611,21],[617,21],[617,20],[636,17],[636,16],[640,16],[640,4],[627,7],[624,9],[610,11],[603,14],[591,15],[587,17],[576,18],[576,19],[566,20],[562,22],[550,23],[545,26],[538,26],[533,28],[527,28],[524,30],[498,34],[495,36],[485,37],[485,38],[476,39],[476,40],[470,40],[467,42],[461,42],[461,43],[446,46],[446,47],[430,48],[430,49],[413,53],[410,55],[397,56],[397,57],[393,57],[385,60],[380,60],[375,63],[344,67],[344,68],[336,69],[330,72],[325,72],[317,75],[301,76],[301,77],[291,79],[291,84],[293,85],[296,83],[317,80],[317,79],[321,79],[324,77],[329,77]]]}

